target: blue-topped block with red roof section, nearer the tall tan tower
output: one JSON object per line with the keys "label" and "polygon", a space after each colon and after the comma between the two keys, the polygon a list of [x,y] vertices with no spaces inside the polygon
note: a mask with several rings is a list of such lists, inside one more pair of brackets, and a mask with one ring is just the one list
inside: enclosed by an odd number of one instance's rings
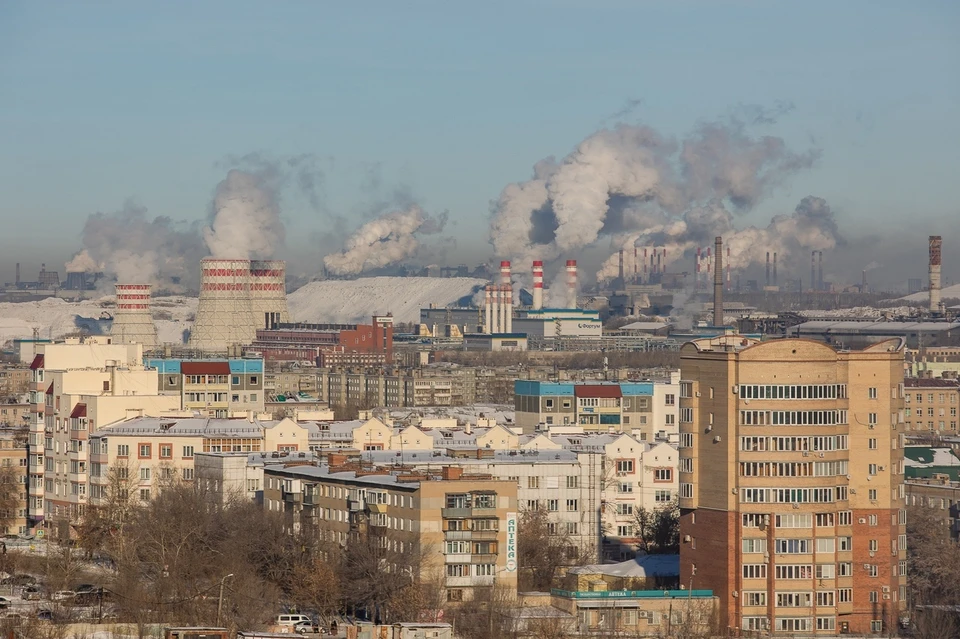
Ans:
{"label": "blue-topped block with red roof section, nearer the tall tan tower", "polygon": [[[657,388],[659,386],[659,388]],[[657,382],[538,382],[517,380],[514,408],[525,433],[553,425],[585,431],[637,433],[641,440],[677,432],[679,385]]]}

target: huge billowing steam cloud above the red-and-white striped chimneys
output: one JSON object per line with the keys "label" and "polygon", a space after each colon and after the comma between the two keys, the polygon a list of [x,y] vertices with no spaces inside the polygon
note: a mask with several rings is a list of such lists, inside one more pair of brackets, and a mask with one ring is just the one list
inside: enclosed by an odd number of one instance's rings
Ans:
{"label": "huge billowing steam cloud above the red-and-white striped chimneys", "polygon": [[[750,119],[769,124],[778,112]],[[785,258],[799,247],[832,248],[841,238],[820,198],[804,198],[766,228],[734,227],[735,214],[753,209],[818,157],[816,149],[797,153],[781,138],[752,136],[736,119],[701,124],[679,143],[646,126],[602,129],[561,161],[538,162],[530,180],[503,189],[491,243],[497,256],[528,262],[609,238],[613,248],[629,249],[632,266],[634,246],[665,247],[668,259],[678,259],[722,234],[734,268],[765,259],[767,250],[779,248]],[[617,270],[615,253],[597,275],[615,277]]]}

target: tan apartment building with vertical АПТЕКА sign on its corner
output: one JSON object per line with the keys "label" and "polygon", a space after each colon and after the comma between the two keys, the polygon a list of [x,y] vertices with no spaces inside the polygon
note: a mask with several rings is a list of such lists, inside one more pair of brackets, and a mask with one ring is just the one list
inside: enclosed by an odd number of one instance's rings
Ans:
{"label": "tan apartment building with vertical \u0410\u041f\u0422\u0415\u041a\u0410 sign on its corner", "polygon": [[417,581],[439,580],[448,601],[470,600],[494,583],[516,591],[514,481],[459,468],[367,474],[334,463],[267,467],[264,486],[264,507],[283,513],[292,529],[312,527],[340,544],[373,539],[398,548],[398,557],[417,549],[411,554],[422,554],[423,563],[397,569]]}

